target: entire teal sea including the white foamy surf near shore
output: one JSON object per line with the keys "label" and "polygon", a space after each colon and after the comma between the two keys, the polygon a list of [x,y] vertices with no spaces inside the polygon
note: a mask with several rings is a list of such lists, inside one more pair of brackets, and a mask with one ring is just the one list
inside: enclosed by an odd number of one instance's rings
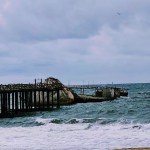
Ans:
{"label": "entire teal sea including the white foamy surf near shore", "polygon": [[150,84],[113,85],[128,97],[0,119],[0,149],[113,150],[150,147]]}

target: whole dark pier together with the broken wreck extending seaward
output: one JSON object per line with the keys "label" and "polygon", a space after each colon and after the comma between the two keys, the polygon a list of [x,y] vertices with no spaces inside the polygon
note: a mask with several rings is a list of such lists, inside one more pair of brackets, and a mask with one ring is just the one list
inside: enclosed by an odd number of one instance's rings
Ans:
{"label": "whole dark pier together with the broken wreck extending seaward", "polygon": [[0,85],[0,118],[22,116],[28,112],[48,111],[86,102],[102,102],[127,96],[121,88],[97,85],[64,86],[58,79],[47,78],[33,84]]}

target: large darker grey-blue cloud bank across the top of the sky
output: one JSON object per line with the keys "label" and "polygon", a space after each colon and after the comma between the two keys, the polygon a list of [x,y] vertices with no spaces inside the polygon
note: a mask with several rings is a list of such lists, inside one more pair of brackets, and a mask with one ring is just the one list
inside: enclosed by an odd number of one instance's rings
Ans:
{"label": "large darker grey-blue cloud bank across the top of the sky", "polygon": [[[4,35],[1,40],[86,38],[96,34],[103,25],[117,28],[128,21],[126,19],[132,19],[136,11],[146,7],[142,6],[143,3],[135,0],[114,0],[113,3],[108,0],[6,1],[8,10],[5,8],[5,11],[2,9],[1,12],[5,21],[0,30]],[[1,2],[1,5],[6,4]],[[117,12],[121,15],[118,16]]]}

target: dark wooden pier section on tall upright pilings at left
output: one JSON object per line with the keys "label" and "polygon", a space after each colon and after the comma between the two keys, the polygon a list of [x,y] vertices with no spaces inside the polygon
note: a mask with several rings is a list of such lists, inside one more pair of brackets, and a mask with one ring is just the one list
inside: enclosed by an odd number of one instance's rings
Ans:
{"label": "dark wooden pier section on tall upright pilings at left", "polygon": [[34,84],[0,85],[0,118],[59,108],[62,88],[61,84],[36,80]]}

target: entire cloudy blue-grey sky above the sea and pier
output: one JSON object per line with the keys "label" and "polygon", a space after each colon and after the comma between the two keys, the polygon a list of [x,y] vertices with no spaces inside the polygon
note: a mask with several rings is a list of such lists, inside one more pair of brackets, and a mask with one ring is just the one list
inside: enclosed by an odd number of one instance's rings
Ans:
{"label": "entire cloudy blue-grey sky above the sea and pier", "polygon": [[0,84],[150,82],[150,0],[0,0]]}

